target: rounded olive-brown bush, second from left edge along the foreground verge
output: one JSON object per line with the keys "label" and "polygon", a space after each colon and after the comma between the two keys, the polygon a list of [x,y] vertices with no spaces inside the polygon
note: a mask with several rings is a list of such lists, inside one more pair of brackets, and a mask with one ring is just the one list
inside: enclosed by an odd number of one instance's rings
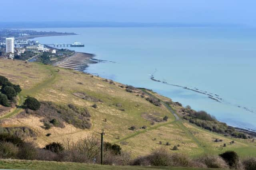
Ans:
{"label": "rounded olive-brown bush, second from left edge along the foreground verge", "polygon": [[23,143],[18,152],[19,159],[34,160],[38,156],[38,147],[34,143]]}

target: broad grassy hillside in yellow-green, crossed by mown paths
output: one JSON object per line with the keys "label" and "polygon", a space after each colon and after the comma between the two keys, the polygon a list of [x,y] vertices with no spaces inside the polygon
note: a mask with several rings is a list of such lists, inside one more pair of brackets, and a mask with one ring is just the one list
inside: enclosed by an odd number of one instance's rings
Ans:
{"label": "broad grassy hillside in yellow-green, crossed by mown paths", "polygon": [[[190,156],[218,154],[225,150],[235,150],[240,156],[256,156],[256,142],[224,137],[179,119],[179,115],[175,117],[174,114],[181,109],[180,106],[167,106],[164,102],[170,102],[170,99],[147,90],[127,92],[126,85],[118,82],[74,70],[21,61],[1,60],[0,74],[20,84],[22,92],[17,99],[18,105],[22,105],[26,96],[33,96],[40,102],[52,102],[58,107],[66,108],[72,104],[89,111],[90,129],[80,129],[74,123],[67,122],[63,122],[64,127],[45,129],[42,127],[46,117],[25,113],[22,108],[0,106],[2,127],[29,127],[36,137],[27,137],[26,140],[36,141],[41,147],[53,141],[77,141],[104,129],[106,141],[121,145],[134,157],[149,154],[160,146],[167,147],[170,152]],[[159,99],[161,106],[146,100],[152,96]],[[97,108],[92,107],[94,104]],[[164,116],[168,116],[167,121],[163,121]],[[79,122],[79,119],[76,118],[76,121]],[[130,130],[131,126],[136,129]],[[146,129],[140,128],[143,126]],[[46,136],[48,133],[51,133],[49,137]],[[216,143],[215,139],[222,139],[222,142]],[[233,140],[235,143],[230,145]],[[167,142],[170,145],[165,145]],[[224,143],[226,147],[223,147]],[[179,146],[178,150],[172,150],[174,145]]]}

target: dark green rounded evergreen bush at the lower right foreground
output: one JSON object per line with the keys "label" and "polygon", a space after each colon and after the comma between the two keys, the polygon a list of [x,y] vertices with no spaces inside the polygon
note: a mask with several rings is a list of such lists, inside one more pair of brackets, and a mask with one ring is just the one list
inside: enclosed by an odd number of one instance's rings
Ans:
{"label": "dark green rounded evergreen bush at the lower right foreground", "polygon": [[227,162],[230,168],[236,168],[238,166],[239,156],[236,152],[226,151],[220,154],[220,157],[222,157]]}

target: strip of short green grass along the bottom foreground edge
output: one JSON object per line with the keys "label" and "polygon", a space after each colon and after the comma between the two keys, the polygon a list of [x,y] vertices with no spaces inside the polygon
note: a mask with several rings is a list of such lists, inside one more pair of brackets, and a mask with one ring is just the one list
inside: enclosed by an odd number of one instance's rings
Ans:
{"label": "strip of short green grass along the bottom foreground edge", "polygon": [[[72,163],[72,162],[54,162],[54,161],[36,161],[36,160],[0,160],[0,169],[33,169],[33,170],[217,170],[212,168],[184,168],[170,166],[110,166],[98,164]],[[218,169],[221,170],[221,169]]]}

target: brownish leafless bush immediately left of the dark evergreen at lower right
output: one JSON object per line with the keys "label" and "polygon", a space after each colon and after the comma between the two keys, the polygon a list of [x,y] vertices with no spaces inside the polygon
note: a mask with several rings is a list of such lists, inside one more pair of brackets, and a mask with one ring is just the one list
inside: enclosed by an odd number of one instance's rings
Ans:
{"label": "brownish leafless bush immediately left of the dark evergreen at lower right", "polygon": [[206,164],[207,168],[228,168],[228,164],[220,156],[204,155],[198,158],[198,162]]}

